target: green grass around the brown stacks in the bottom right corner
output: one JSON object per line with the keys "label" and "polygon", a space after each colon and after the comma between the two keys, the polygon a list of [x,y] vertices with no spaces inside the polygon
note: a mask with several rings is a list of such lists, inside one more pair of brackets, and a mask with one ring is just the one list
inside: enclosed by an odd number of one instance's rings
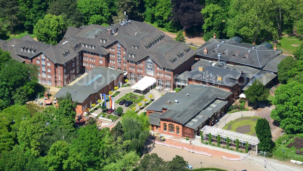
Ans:
{"label": "green grass around the brown stacks in the bottom right corner", "polygon": [[[287,135],[283,135],[283,136],[287,136]],[[280,159],[282,160],[283,159],[283,152],[282,150],[285,150],[285,160],[286,159],[293,159],[293,160],[298,160],[298,161],[303,161],[303,155],[301,154],[296,154],[296,148],[294,146],[292,146],[291,148],[287,148],[286,146],[289,144],[289,143],[292,143],[294,142],[295,138],[291,138],[287,141],[287,143],[285,144],[279,144],[278,143],[278,140],[275,141],[276,143],[276,146],[272,152],[273,154],[273,157],[276,158],[276,159]],[[303,151],[303,148],[301,148],[301,151]]]}

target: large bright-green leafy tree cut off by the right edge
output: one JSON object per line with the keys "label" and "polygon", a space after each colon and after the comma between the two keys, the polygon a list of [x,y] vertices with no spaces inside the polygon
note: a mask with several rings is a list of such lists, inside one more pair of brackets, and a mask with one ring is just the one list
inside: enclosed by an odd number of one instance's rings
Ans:
{"label": "large bright-green leafy tree cut off by the right edge", "polygon": [[271,118],[280,123],[285,133],[303,131],[302,94],[303,84],[296,81],[282,84],[275,90],[275,109],[271,111]]}

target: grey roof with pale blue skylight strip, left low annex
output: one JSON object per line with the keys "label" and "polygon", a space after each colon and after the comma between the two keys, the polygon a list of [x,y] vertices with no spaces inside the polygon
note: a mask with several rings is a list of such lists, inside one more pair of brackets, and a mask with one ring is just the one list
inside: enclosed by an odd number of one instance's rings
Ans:
{"label": "grey roof with pale blue skylight strip, left low annex", "polygon": [[125,72],[106,67],[95,67],[74,84],[62,87],[54,97],[62,97],[69,92],[72,95],[73,101],[82,103],[89,95],[97,93],[123,73]]}

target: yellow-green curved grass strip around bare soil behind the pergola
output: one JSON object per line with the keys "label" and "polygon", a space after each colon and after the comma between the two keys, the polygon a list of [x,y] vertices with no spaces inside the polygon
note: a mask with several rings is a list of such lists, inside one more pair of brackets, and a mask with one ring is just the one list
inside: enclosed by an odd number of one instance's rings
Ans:
{"label": "yellow-green curved grass strip around bare soil behind the pergola", "polygon": [[[248,119],[241,120],[242,118],[248,118]],[[258,119],[260,117],[241,117],[241,118],[238,118],[236,120],[230,121],[229,123],[227,123],[227,125],[225,127],[223,127],[223,129],[227,130],[228,129],[228,125],[231,124],[231,131],[235,131],[236,132],[236,129],[238,127],[241,127],[243,125],[250,125],[250,132],[245,133],[245,134],[255,135],[255,133],[256,133],[255,126],[257,124],[257,121],[253,121],[252,120],[253,118]]]}

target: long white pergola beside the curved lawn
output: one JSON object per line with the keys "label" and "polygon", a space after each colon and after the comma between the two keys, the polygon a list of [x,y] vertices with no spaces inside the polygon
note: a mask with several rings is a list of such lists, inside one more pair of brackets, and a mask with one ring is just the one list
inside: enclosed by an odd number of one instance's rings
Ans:
{"label": "long white pergola beside the curved lawn", "polygon": [[211,135],[214,136],[218,136],[220,135],[220,137],[222,138],[229,138],[229,140],[235,141],[235,140],[239,140],[242,143],[248,143],[251,145],[255,145],[256,146],[256,154],[258,153],[258,144],[259,144],[259,139],[256,136],[252,136],[252,135],[247,135],[247,134],[243,134],[243,133],[238,133],[238,132],[234,132],[234,131],[230,131],[230,130],[224,130],[221,128],[217,128],[217,127],[211,127],[206,125],[205,127],[203,127],[201,129],[201,131],[205,134],[209,134],[211,133]]}

